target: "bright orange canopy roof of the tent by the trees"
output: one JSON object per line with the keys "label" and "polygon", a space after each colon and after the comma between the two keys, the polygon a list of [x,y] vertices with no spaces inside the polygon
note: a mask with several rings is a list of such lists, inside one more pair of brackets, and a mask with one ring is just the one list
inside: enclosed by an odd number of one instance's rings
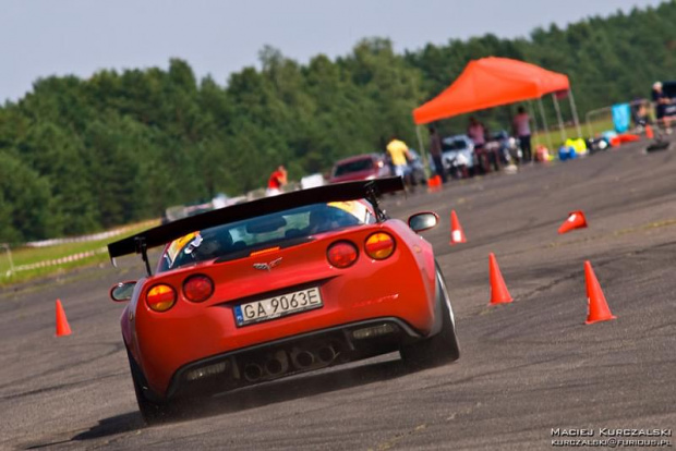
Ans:
{"label": "bright orange canopy roof of the tent by the trees", "polygon": [[417,124],[568,90],[568,76],[508,58],[470,61],[442,94],[413,110]]}

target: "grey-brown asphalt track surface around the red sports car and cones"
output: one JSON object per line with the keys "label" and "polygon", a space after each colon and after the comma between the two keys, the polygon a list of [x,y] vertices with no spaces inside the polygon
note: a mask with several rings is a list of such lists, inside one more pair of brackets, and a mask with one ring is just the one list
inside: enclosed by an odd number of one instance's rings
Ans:
{"label": "grey-brown asphalt track surface around the red sports car and cones", "polygon": [[[570,439],[553,437],[557,428],[591,429],[592,439],[604,438],[601,428],[673,431],[676,144],[643,147],[386,198],[394,217],[442,217],[425,237],[446,275],[461,357],[434,369],[407,373],[389,354],[219,395],[145,427],[122,306],[107,298],[113,282],[143,271],[135,258],[5,289],[0,448],[524,450]],[[451,209],[468,236],[461,245],[449,245]],[[578,209],[589,228],[558,235]],[[511,304],[488,306],[490,253]],[[586,260],[617,319],[584,325]],[[70,337],[55,338],[56,298]]]}

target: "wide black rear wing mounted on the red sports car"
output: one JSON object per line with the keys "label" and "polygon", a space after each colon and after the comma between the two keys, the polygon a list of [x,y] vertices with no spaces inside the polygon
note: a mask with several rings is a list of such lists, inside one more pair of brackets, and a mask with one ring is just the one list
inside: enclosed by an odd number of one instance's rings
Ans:
{"label": "wide black rear wing mounted on the red sports car", "polygon": [[364,182],[345,182],[333,185],[317,186],[314,188],[283,193],[273,197],[237,204],[230,207],[219,208],[201,215],[182,218],[164,226],[158,226],[140,232],[133,236],[108,244],[108,255],[114,265],[114,258],[129,254],[142,254],[146,263],[148,275],[150,273],[147,263],[146,251],[161,246],[196,230],[204,230],[216,226],[254,218],[261,215],[288,210],[311,204],[329,202],[357,200],[365,198],[376,210],[378,221],[385,218],[378,208],[377,198],[382,194],[402,191],[403,180],[400,176],[370,180]]}

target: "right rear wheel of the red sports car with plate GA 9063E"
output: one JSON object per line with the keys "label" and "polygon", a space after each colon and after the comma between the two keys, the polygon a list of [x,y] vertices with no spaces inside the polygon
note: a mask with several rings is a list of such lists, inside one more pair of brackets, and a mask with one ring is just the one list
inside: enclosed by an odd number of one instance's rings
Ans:
{"label": "right rear wheel of the red sports car with plate GA 9063E", "polygon": [[460,357],[450,296],[438,265],[436,283],[437,302],[440,303],[442,312],[442,330],[434,337],[401,346],[401,358],[413,368],[431,368],[455,362]]}

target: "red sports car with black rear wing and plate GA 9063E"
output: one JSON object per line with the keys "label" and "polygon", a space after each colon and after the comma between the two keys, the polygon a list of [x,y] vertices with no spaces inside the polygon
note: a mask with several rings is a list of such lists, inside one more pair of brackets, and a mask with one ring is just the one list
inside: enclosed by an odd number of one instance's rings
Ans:
{"label": "red sports car with black rear wing and plate GA 9063E", "polygon": [[[399,178],[282,194],[179,219],[111,243],[147,277],[114,285],[146,422],[180,401],[400,351],[425,367],[458,358],[455,320],[432,245],[387,217]],[[165,246],[152,273],[147,249]],[[114,260],[113,260],[114,263]]]}

